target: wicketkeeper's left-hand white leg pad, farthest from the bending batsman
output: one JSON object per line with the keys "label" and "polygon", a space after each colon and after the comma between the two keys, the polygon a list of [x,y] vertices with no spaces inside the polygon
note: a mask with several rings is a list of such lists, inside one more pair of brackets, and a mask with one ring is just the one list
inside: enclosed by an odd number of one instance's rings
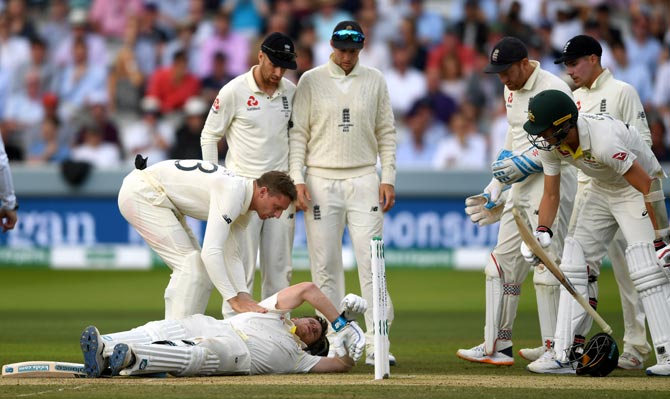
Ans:
{"label": "wicketkeeper's left-hand white leg pad, farthest from the bending batsman", "polygon": [[[499,341],[512,340],[514,316],[519,306],[521,285],[504,283],[505,275],[493,254],[484,269],[486,274],[486,325],[484,326],[484,349],[488,355],[499,350]],[[504,348],[503,348],[504,349]]]}

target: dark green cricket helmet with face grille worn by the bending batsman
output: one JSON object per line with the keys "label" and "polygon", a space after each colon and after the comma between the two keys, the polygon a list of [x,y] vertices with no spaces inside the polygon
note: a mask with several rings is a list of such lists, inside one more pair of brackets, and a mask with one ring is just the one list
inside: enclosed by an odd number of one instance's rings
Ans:
{"label": "dark green cricket helmet with face grille worn by the bending batsman", "polygon": [[[568,131],[577,123],[577,105],[570,96],[560,90],[544,90],[528,103],[528,121],[523,124],[528,133],[528,141],[540,150],[551,151],[568,135]],[[540,137],[547,129],[553,128],[552,137],[558,139],[549,144]]]}

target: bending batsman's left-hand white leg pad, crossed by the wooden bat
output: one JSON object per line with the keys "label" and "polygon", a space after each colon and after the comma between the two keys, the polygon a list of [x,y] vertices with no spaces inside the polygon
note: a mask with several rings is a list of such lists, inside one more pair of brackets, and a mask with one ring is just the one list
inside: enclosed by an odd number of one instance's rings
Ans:
{"label": "bending batsman's left-hand white leg pad, crossed by the wooden bat", "polygon": [[[565,239],[561,270],[565,277],[572,282],[575,290],[586,296],[588,291],[586,259],[581,245],[572,237]],[[554,350],[559,361],[567,361],[568,349],[574,341],[576,328],[586,316],[586,311],[568,293],[565,287],[561,286],[556,335],[554,337]]]}

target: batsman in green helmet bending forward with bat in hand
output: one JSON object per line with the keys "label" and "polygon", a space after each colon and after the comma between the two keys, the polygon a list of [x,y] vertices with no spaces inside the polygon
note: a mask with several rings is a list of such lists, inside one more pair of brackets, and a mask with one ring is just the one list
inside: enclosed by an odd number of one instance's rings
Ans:
{"label": "batsman in green helmet bending forward with bat in hand", "polygon": [[[524,129],[531,143],[543,150],[544,194],[535,236],[543,247],[551,244],[550,226],[561,191],[561,161],[573,164],[591,181],[584,189],[584,205],[574,233],[565,240],[561,270],[586,296],[589,269],[599,270],[607,246],[620,228],[628,243],[630,276],[656,349],[657,364],[647,368],[647,374],[670,376],[670,281],[664,270],[667,262],[657,257],[664,256],[664,251],[656,253],[652,243],[667,242],[669,233],[659,180],[665,177],[661,165],[635,128],[608,115],[578,114],[572,99],[560,91],[546,90],[530,101]],[[521,252],[533,261],[527,246],[522,245]],[[576,328],[585,317],[583,308],[562,287],[554,348],[530,363],[528,370],[574,373],[570,352]]]}

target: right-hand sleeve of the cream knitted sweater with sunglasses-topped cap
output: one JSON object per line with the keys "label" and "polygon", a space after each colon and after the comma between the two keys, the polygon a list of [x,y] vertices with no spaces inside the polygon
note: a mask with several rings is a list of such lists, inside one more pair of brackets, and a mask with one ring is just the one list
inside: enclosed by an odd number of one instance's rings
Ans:
{"label": "right-hand sleeve of the cream knitted sweater with sunglasses-topped cap", "polygon": [[384,77],[379,75],[379,105],[377,108],[377,120],[375,121],[375,136],[377,137],[377,148],[382,167],[382,184],[395,185],[396,177],[396,131],[391,109],[391,100],[388,87]]}

